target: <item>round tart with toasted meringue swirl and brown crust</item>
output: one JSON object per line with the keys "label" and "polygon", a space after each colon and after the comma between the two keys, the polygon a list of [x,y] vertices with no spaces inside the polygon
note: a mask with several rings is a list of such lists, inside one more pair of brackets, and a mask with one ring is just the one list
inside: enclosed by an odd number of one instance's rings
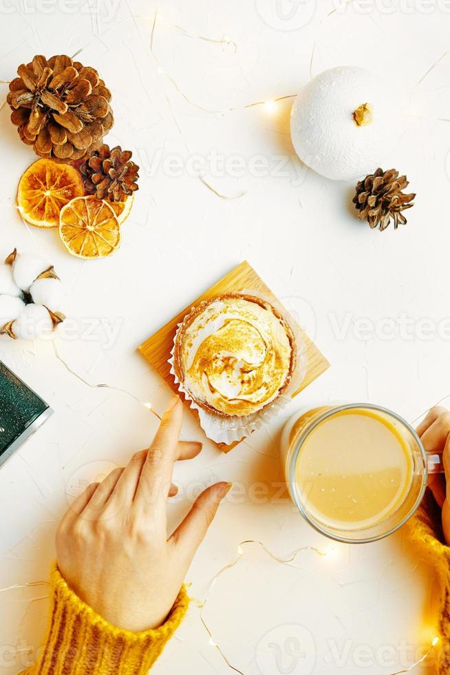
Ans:
{"label": "round tart with toasted meringue swirl and brown crust", "polygon": [[292,344],[268,303],[225,296],[186,326],[180,362],[184,386],[195,399],[226,415],[250,415],[286,383]]}

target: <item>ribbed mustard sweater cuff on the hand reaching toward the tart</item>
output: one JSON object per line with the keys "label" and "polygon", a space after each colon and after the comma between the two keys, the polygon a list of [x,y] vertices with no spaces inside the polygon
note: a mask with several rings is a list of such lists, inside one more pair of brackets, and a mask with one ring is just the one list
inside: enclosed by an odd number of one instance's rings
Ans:
{"label": "ribbed mustard sweater cuff on the hand reaching toward the tart", "polygon": [[183,586],[162,626],[134,633],[114,627],[83,603],[56,565],[51,588],[45,644],[36,664],[22,675],[146,675],[180,625],[189,604]]}

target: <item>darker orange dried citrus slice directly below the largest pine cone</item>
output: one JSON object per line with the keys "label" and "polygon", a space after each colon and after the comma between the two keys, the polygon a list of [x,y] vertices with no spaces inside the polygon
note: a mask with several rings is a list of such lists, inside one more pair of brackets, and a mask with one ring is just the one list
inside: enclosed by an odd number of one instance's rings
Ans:
{"label": "darker orange dried citrus slice directly below the largest pine cone", "polygon": [[39,159],[19,181],[17,205],[29,225],[57,227],[63,206],[82,194],[85,194],[83,180],[74,167]]}

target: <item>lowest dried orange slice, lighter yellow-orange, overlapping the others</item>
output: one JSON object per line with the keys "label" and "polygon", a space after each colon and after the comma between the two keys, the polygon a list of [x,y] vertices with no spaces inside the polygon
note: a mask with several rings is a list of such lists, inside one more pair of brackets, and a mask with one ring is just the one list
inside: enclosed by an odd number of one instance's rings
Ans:
{"label": "lowest dried orange slice, lighter yellow-orange, overlapping the others", "polygon": [[72,256],[105,258],[120,246],[120,225],[105,200],[76,197],[61,209],[59,236]]}

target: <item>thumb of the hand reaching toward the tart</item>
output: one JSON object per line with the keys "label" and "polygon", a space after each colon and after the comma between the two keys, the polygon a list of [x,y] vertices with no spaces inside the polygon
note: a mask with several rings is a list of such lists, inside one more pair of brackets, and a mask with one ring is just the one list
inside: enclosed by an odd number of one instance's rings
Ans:
{"label": "thumb of the hand reaching toward the tart", "polygon": [[189,564],[213,522],[219,503],[231,488],[231,483],[215,483],[197,497],[188,515],[169,538],[169,543]]}

